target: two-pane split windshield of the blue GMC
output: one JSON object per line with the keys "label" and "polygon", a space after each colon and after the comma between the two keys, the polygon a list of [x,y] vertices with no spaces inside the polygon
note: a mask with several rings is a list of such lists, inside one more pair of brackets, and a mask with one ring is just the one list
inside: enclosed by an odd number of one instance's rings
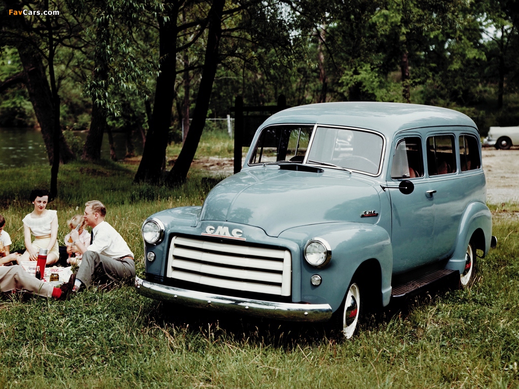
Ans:
{"label": "two-pane split windshield of the blue GMC", "polygon": [[384,138],[370,131],[313,126],[270,126],[262,130],[249,164],[280,161],[345,168],[372,175],[379,173]]}

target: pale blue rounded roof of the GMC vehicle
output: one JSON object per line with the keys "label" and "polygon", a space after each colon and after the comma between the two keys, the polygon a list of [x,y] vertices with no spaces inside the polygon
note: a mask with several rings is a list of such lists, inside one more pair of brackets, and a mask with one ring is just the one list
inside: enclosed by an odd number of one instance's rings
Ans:
{"label": "pale blue rounded roof of the GMC vehicle", "polygon": [[327,124],[376,130],[386,136],[402,130],[437,126],[468,126],[474,121],[453,109],[430,105],[338,102],[302,105],[269,117],[262,127],[279,123]]}

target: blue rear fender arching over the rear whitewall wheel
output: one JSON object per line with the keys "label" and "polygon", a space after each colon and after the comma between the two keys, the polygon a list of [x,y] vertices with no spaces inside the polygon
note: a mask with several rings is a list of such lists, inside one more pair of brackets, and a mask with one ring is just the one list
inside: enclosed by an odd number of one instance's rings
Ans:
{"label": "blue rear fender arching over the rear whitewall wheel", "polygon": [[460,273],[465,269],[467,246],[476,233],[483,242],[477,241],[477,248],[482,249],[483,257],[488,254],[490,241],[492,239],[492,215],[486,204],[482,202],[470,203],[463,217],[458,231],[458,239],[453,256],[447,262],[446,268],[458,270]]}

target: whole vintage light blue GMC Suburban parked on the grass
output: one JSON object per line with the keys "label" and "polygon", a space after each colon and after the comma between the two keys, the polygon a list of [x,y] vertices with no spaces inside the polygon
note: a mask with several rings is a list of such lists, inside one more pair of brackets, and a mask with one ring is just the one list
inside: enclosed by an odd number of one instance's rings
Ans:
{"label": "whole vintage light blue GMC Suburban parked on the grass", "polygon": [[454,110],[397,103],[289,108],[203,206],[144,221],[139,293],[222,312],[324,322],[445,277],[474,280],[496,239],[481,141]]}

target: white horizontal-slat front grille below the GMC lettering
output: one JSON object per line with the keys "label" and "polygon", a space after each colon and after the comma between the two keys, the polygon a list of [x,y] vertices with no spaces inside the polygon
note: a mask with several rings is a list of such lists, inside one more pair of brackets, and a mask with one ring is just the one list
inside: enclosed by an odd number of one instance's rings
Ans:
{"label": "white horizontal-slat front grille below the GMC lettering", "polygon": [[175,236],[166,275],[218,288],[290,296],[292,256],[283,248]]}

